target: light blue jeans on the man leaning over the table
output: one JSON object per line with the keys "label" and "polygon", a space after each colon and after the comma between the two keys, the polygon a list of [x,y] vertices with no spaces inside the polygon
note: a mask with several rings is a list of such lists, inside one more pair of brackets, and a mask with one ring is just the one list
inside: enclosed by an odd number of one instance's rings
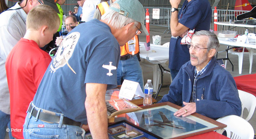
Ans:
{"label": "light blue jeans on the man leaning over the table", "polygon": [[[31,105],[33,109],[42,112],[42,109],[36,107],[33,103]],[[37,119],[27,112],[25,123],[23,125],[23,136],[25,139],[37,139],[37,138],[60,138],[60,139],[83,139],[85,137],[85,130],[78,126],[64,125],[62,120],[64,115],[61,113],[55,113],[60,116],[60,124],[48,123]]]}

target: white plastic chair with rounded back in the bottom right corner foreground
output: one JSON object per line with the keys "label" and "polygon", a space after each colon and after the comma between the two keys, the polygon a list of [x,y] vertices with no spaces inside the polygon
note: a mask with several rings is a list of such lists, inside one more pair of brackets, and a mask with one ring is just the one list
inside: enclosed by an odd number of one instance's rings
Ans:
{"label": "white plastic chair with rounded back in the bottom right corner foreground", "polygon": [[[227,127],[225,127],[224,129],[227,132],[228,138],[231,138],[231,139],[253,139],[254,138],[254,130],[252,128],[252,125],[239,116],[228,115],[225,117],[221,117],[216,121],[227,125]],[[222,134],[219,131],[222,131],[222,130],[220,129],[220,130],[217,130],[216,132]]]}

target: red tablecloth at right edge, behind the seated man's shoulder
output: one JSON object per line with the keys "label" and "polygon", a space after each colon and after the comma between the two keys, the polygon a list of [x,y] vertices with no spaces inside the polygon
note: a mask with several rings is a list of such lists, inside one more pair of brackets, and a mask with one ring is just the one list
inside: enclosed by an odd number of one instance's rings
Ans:
{"label": "red tablecloth at right edge, behind the seated man's shoulder", "polygon": [[237,89],[256,96],[256,74],[248,74],[234,77]]}

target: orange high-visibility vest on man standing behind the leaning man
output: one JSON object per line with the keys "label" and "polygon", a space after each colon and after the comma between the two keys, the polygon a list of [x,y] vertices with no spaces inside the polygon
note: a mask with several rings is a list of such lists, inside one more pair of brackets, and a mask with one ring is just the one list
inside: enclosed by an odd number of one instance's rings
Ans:
{"label": "orange high-visibility vest on man standing behind the leaning man", "polygon": [[[99,9],[101,16],[108,11],[108,2],[102,2],[96,6]],[[126,42],[124,46],[120,46],[121,56],[130,54],[135,55],[140,51],[139,37],[135,35],[130,41]]]}

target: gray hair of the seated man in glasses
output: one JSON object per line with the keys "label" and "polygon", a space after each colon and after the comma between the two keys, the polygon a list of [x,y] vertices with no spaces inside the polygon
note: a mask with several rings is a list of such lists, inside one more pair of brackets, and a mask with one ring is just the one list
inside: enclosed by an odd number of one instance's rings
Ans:
{"label": "gray hair of the seated man in glasses", "polygon": [[[207,43],[207,48],[208,48],[207,52],[211,49],[215,49],[216,53],[218,52],[219,40],[218,40],[218,37],[214,33],[207,31],[207,30],[201,30],[201,31],[195,32],[195,34],[193,36],[207,36],[209,39],[208,43]],[[192,38],[193,38],[193,36],[192,36]]]}

